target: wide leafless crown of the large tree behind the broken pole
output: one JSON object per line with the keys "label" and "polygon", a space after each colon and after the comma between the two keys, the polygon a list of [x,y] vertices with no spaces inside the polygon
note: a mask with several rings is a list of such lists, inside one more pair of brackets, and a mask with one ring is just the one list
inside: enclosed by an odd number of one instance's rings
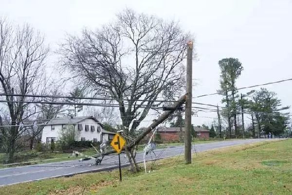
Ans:
{"label": "wide leafless crown of the large tree behind the broken pole", "polygon": [[174,21],[127,9],[114,23],[68,36],[60,54],[63,66],[88,89],[114,98],[123,125],[135,129],[150,109],[142,105],[158,106],[154,101],[164,90],[183,89],[182,61],[190,39]]}

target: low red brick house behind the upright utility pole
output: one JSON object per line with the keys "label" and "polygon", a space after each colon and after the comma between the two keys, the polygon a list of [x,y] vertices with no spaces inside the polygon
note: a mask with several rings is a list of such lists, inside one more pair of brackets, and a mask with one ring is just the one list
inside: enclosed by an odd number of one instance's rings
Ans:
{"label": "low red brick house behind the upright utility pole", "polygon": [[[180,137],[184,140],[184,127],[182,131],[180,127],[157,127],[158,132],[160,133],[160,139],[164,141],[179,141]],[[197,138],[209,138],[209,130],[204,129],[201,126],[195,126],[195,133]]]}

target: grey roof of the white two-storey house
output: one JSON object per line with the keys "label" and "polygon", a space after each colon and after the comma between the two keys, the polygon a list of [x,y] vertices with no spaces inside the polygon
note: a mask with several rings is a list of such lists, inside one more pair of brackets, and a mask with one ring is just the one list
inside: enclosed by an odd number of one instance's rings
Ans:
{"label": "grey roof of the white two-storey house", "polygon": [[96,121],[96,123],[103,126],[95,117],[93,116],[84,116],[84,117],[57,117],[55,119],[51,119],[47,124],[44,125],[57,125],[57,124],[78,124],[81,121],[86,119],[92,119]]}

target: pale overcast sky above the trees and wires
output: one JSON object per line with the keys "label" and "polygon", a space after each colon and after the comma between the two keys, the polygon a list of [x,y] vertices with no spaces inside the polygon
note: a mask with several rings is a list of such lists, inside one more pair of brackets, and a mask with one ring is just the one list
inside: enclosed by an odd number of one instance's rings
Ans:
{"label": "pale overcast sky above the trees and wires", "polygon": [[[242,63],[238,88],[292,78],[292,0],[0,0],[0,15],[18,24],[32,24],[55,50],[66,32],[98,28],[126,7],[180,20],[183,29],[196,35],[193,96],[219,89],[218,61],[225,57]],[[49,62],[48,67],[53,67],[55,56]],[[266,88],[276,92],[286,106],[291,105],[291,84]],[[220,99],[213,95],[193,101],[217,105]],[[192,123],[211,124],[213,119],[204,117],[216,117],[216,113],[199,112]]]}

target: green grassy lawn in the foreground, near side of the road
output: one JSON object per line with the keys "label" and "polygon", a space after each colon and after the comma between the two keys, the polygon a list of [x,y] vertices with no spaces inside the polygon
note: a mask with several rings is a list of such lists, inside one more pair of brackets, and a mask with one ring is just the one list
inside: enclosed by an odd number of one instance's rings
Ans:
{"label": "green grassy lawn in the foreground, near side of the road", "polygon": [[292,139],[215,149],[148,163],[145,174],[81,174],[0,188],[2,195],[291,195]]}

